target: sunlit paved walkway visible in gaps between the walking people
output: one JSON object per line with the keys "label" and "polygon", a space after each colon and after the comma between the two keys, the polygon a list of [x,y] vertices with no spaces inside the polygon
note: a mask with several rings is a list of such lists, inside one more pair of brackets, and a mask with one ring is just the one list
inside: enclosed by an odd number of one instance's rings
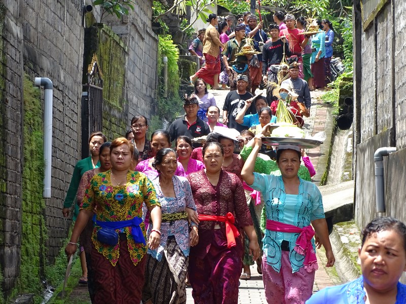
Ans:
{"label": "sunlit paved walkway visible in gaps between the walking people", "polygon": [[[224,99],[228,91],[221,90],[209,90],[216,98],[217,106],[220,108],[220,113],[222,113],[222,107],[224,104]],[[257,93],[259,91],[257,90]],[[319,131],[326,131],[326,133],[332,131],[331,124],[328,123],[330,111],[329,107],[324,105],[318,100],[318,97],[322,95],[322,92],[311,92],[312,95],[312,108],[311,116],[309,118],[304,118],[304,129],[307,130],[309,134],[314,135]],[[220,117],[221,118],[221,117]],[[331,130],[325,130],[325,128],[331,128]],[[330,135],[331,136],[331,135]],[[317,183],[320,179],[320,175],[324,173],[325,170],[325,161],[327,157],[329,141],[326,141],[325,145],[322,145],[318,148],[311,149],[308,152],[308,155],[311,157],[312,163],[316,169],[317,174],[315,175],[314,181]],[[323,257],[318,257],[320,261]],[[324,257],[325,259],[325,257]],[[239,303],[253,303],[253,304],[262,304],[266,303],[262,276],[258,274],[256,270],[256,265],[251,267],[251,279],[250,280],[240,280],[241,285],[239,287]],[[319,269],[316,271],[315,284],[313,291],[316,292],[319,289],[322,289],[327,286],[334,285],[328,276],[324,264],[319,262]],[[187,304],[193,303],[192,298],[192,289],[191,287],[187,288]],[[70,299],[74,301],[66,301],[66,303],[77,302],[80,298],[83,299],[82,303],[89,303],[88,295],[86,289],[83,287],[77,287],[70,296]],[[78,301],[79,302],[79,301]],[[210,303],[208,303],[210,304]]]}

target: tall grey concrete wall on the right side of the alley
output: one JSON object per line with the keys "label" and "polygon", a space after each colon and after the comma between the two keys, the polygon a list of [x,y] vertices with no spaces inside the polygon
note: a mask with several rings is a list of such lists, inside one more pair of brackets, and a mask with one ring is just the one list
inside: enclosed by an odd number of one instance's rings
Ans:
{"label": "tall grey concrete wall on the right side of the alley", "polygon": [[[392,0],[379,7],[366,29],[359,0],[354,8],[355,218],[360,227],[382,215],[406,222],[406,34],[398,23],[406,17],[406,3]],[[374,152],[382,146],[396,146],[397,152],[384,160],[386,213],[378,214]]]}

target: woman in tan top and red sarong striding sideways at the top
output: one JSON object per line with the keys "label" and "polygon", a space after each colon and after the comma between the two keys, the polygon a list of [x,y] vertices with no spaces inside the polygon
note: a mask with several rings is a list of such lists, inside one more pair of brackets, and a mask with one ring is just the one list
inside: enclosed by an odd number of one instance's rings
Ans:
{"label": "woman in tan top and red sarong striding sideways at the top", "polygon": [[190,84],[193,84],[196,78],[203,79],[206,83],[212,86],[214,90],[221,90],[219,87],[220,74],[220,48],[224,45],[220,41],[220,34],[215,28],[219,21],[216,14],[210,14],[207,19],[209,26],[206,29],[203,39],[203,54],[205,56],[206,65],[200,68],[194,75],[190,76]]}

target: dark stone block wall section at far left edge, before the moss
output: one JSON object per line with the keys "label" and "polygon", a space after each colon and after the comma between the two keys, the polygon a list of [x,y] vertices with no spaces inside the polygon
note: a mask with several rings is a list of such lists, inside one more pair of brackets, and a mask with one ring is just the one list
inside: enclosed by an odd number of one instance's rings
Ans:
{"label": "dark stone block wall section at far left edge, before the moss", "polygon": [[20,271],[23,56],[18,14],[15,1],[0,3],[0,266],[5,291]]}

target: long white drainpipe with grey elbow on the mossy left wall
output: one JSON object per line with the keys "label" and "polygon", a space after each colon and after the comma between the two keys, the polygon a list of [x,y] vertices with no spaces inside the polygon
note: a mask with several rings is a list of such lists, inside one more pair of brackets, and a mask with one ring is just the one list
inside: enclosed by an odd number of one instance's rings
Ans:
{"label": "long white drainpipe with grey elbow on the mossy left wall", "polygon": [[52,169],[52,98],[53,85],[49,78],[36,77],[36,86],[44,86],[44,190],[42,196],[51,198],[51,169]]}

